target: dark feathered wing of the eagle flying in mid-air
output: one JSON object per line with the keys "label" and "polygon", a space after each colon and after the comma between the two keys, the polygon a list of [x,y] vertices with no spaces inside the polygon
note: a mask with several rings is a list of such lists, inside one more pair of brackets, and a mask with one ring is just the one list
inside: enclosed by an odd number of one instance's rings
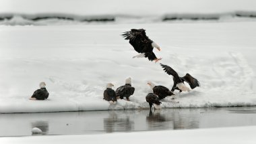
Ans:
{"label": "dark feathered wing of the eagle flying in mid-air", "polygon": [[[129,40],[129,43],[136,52],[147,53],[153,51],[153,41],[148,38],[145,29],[131,29],[131,31],[126,31],[122,35],[125,40]],[[150,58],[150,56],[148,56],[148,58]]]}

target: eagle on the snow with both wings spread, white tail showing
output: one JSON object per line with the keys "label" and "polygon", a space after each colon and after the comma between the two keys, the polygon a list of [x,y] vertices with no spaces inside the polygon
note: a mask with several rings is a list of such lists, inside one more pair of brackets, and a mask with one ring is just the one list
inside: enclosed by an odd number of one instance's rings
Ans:
{"label": "eagle on the snow with both wings spread, white tail showing", "polygon": [[173,86],[171,90],[172,92],[175,89],[180,90],[180,92],[190,91],[190,89],[187,86],[185,86],[184,81],[187,82],[192,89],[196,88],[197,86],[200,86],[199,81],[193,78],[193,76],[191,76],[190,74],[187,73],[185,76],[180,77],[177,74],[177,72],[175,72],[175,70],[170,68],[170,66],[167,66],[164,64],[160,64],[160,65],[162,66],[162,68],[164,68],[164,72],[173,76]]}

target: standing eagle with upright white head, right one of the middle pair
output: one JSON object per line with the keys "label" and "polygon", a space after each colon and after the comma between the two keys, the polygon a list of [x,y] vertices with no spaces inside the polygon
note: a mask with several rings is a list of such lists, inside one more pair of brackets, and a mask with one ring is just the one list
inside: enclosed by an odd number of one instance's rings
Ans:
{"label": "standing eagle with upright white head, right one of the middle pair", "polygon": [[123,99],[123,97],[126,97],[126,99],[129,101],[129,96],[133,95],[135,88],[131,86],[131,78],[127,78],[125,80],[125,85],[120,86],[116,90],[117,97],[120,97]]}

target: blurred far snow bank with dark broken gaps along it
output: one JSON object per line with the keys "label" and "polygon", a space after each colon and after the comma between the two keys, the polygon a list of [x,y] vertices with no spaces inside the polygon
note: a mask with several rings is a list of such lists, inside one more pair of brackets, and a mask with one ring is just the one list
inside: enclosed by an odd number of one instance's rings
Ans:
{"label": "blurred far snow bank with dark broken gaps along it", "polygon": [[255,20],[255,11],[230,13],[164,13],[162,15],[140,15],[136,13],[111,13],[108,15],[75,15],[67,13],[2,13],[0,25],[77,25],[100,23],[154,23],[161,21],[248,21]]}

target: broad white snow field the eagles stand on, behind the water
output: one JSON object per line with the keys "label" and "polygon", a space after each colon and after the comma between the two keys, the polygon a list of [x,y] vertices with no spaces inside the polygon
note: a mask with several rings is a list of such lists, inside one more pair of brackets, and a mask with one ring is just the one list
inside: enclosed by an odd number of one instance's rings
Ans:
{"label": "broad white snow field the eagles stand on, behind the water", "polygon": [[[0,113],[149,109],[148,81],[172,88],[172,77],[187,72],[201,87],[162,100],[162,108],[255,106],[255,22],[147,23],[65,26],[0,26]],[[146,29],[161,51],[158,63],[137,55],[123,31]],[[131,101],[103,100],[131,77]],[[28,100],[40,82],[47,100]]]}

